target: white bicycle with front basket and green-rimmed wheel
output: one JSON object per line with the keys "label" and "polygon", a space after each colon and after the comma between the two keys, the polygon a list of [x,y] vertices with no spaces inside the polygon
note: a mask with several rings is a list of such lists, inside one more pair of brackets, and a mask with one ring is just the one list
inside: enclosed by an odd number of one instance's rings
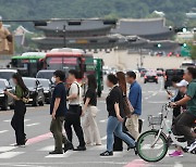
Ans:
{"label": "white bicycle with front basket and green-rimmed wheel", "polygon": [[[161,113],[159,116],[150,115],[148,117],[149,126],[152,126],[151,130],[148,130],[142,133],[137,140],[136,151],[139,157],[146,162],[159,162],[168,153],[168,149],[170,146],[170,141],[173,141],[174,144],[181,146],[186,150],[187,142],[179,142],[177,139],[184,138],[183,136],[174,136],[171,125],[169,124],[168,114],[170,112],[170,105],[164,104],[162,106]],[[166,111],[166,115],[163,112]],[[159,125],[160,129],[155,129],[155,126]],[[169,136],[163,132],[166,127]],[[194,124],[196,127],[196,124]],[[195,152],[194,152],[195,154]]]}

